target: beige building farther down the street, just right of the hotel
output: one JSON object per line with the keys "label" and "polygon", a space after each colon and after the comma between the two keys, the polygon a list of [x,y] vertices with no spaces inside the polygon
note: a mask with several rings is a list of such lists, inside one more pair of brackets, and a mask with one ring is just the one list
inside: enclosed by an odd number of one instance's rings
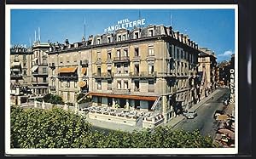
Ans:
{"label": "beige building farther down the street, just right of the hotel", "polygon": [[217,86],[216,80],[216,56],[208,48],[199,48],[201,53],[198,56],[198,75],[200,76],[200,95],[204,99]]}

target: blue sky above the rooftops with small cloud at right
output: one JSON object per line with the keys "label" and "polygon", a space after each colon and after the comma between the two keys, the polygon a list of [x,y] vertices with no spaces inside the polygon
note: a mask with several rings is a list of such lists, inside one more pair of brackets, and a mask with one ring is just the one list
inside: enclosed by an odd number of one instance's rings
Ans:
{"label": "blue sky above the rooftops with small cloud at right", "polygon": [[30,46],[35,31],[40,40],[64,43],[80,42],[84,36],[103,34],[119,20],[145,19],[145,25],[171,26],[188,34],[200,48],[209,48],[217,61],[230,60],[235,51],[235,9],[11,9],[12,44]]}

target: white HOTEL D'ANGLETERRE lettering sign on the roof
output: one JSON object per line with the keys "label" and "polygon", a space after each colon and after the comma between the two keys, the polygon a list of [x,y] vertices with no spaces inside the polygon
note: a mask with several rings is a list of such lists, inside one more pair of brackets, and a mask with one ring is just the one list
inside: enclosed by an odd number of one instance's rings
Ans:
{"label": "white HOTEL D'ANGLETERRE lettering sign on the roof", "polygon": [[145,25],[145,19],[135,20],[135,21],[130,21],[129,19],[125,19],[125,20],[119,20],[117,22],[117,25],[108,26],[106,29],[104,29],[104,31],[111,32],[111,31],[117,31],[119,29],[128,29],[128,28],[143,26],[143,25]]}

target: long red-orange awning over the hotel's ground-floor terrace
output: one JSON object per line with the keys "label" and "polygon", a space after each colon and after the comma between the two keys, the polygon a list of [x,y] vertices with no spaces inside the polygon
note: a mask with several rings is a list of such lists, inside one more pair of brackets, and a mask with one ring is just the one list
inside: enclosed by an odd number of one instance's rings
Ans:
{"label": "long red-orange awning over the hotel's ground-floor terrace", "polygon": [[102,94],[102,93],[89,93],[91,96],[111,97],[117,99],[137,99],[137,100],[150,100],[155,101],[158,97],[155,96],[142,96],[142,95],[122,95],[122,94]]}

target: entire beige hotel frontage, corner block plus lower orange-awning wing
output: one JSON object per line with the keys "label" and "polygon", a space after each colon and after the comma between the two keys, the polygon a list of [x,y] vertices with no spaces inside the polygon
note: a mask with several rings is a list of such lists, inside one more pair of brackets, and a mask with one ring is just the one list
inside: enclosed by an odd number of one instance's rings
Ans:
{"label": "entire beige hotel frontage, corner block plus lower orange-awning wing", "polygon": [[160,111],[165,122],[198,102],[198,45],[171,26],[147,26],[51,44],[49,92],[75,103]]}

